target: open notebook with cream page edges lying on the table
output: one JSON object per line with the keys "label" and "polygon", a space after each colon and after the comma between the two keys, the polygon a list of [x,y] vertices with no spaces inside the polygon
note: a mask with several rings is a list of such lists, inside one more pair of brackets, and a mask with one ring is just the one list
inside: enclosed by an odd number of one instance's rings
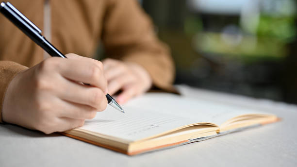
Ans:
{"label": "open notebook with cream page edges lying on the table", "polygon": [[166,93],[148,93],[122,107],[125,114],[108,106],[82,127],[62,134],[134,155],[278,120],[257,110]]}

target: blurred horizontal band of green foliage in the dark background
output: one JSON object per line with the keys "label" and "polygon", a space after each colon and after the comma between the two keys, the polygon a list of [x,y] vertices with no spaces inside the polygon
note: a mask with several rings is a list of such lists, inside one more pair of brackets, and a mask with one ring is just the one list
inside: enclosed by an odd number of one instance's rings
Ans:
{"label": "blurred horizontal band of green foliage in the dark background", "polygon": [[[243,36],[240,44],[230,46],[222,40],[219,33],[200,33],[196,48],[199,51],[225,55],[225,58],[240,59],[242,62],[254,62],[261,59],[279,59],[288,54],[285,44],[279,40],[263,37]],[[257,40],[257,42],[255,42]],[[256,43],[256,44],[255,44]]]}

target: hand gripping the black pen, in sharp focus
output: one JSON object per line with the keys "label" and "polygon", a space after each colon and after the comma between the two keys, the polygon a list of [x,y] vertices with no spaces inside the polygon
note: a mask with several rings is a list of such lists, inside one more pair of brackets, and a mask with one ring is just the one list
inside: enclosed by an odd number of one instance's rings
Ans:
{"label": "hand gripping the black pen, in sharp focus", "polygon": [[66,56],[48,58],[16,75],[4,97],[3,121],[50,134],[80,127],[106,108],[102,63]]}

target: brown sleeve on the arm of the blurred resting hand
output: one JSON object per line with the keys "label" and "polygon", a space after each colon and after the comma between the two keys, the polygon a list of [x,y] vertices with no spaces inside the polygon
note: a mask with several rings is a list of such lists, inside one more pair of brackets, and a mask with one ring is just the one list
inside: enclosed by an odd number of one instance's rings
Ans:
{"label": "brown sleeve on the arm of the blurred resting hand", "polygon": [[175,67],[169,48],[153,30],[136,0],[111,0],[104,18],[102,41],[106,55],[144,67],[153,85],[170,92]]}

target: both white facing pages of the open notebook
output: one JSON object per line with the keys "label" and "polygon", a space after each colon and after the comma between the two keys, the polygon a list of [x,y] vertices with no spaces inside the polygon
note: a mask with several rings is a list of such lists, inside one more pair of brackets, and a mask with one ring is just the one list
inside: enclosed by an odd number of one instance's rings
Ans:
{"label": "both white facing pages of the open notebook", "polygon": [[108,106],[94,119],[87,120],[81,129],[135,141],[193,123],[209,122],[221,125],[232,117],[258,113],[245,108],[165,93],[148,93],[122,107],[125,114]]}

